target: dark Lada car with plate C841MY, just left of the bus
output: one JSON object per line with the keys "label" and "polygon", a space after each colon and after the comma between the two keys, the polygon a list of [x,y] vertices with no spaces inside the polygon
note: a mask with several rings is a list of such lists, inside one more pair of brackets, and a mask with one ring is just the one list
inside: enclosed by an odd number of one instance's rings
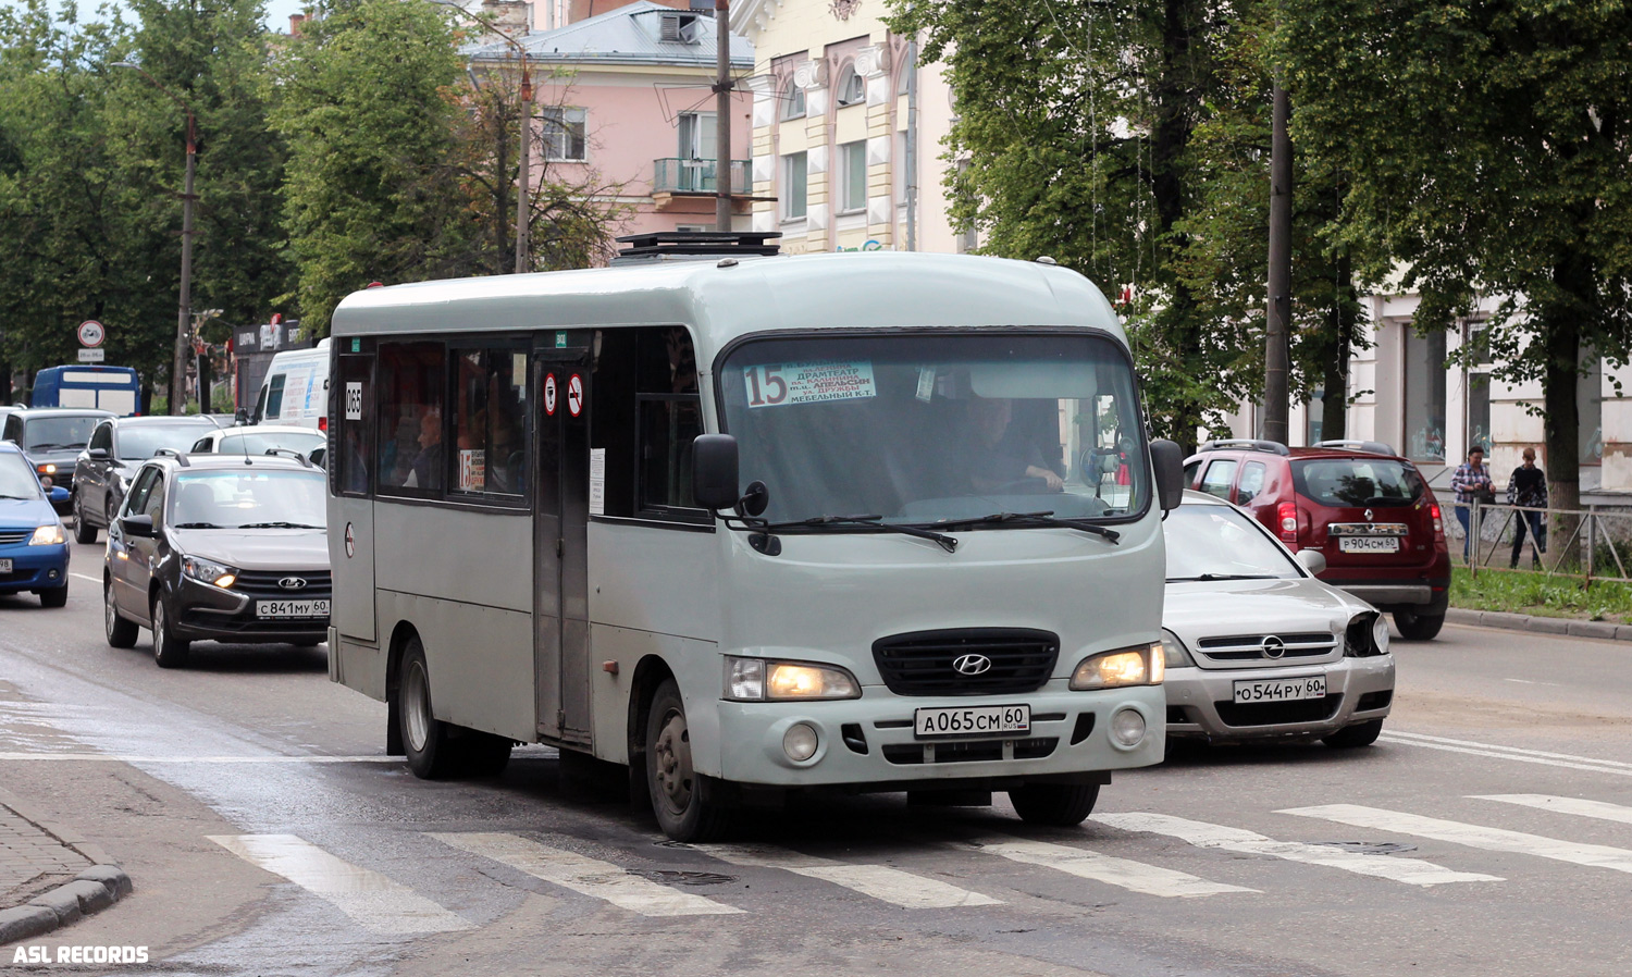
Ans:
{"label": "dark Lada car with plate C841MY, just left of the bus", "polygon": [[160,667],[193,641],[313,646],[328,631],[325,475],[286,455],[160,455],[108,528],[108,644],[153,633]]}

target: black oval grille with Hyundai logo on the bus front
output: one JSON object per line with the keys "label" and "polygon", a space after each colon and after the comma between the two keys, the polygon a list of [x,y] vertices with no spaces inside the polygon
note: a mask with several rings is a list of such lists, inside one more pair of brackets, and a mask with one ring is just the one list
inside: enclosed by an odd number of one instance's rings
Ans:
{"label": "black oval grille with Hyundai logo on the bus front", "polygon": [[[956,662],[987,659],[984,670]],[[1030,628],[911,631],[873,643],[873,661],[896,695],[1015,695],[1036,692],[1054,674],[1059,636]],[[974,674],[969,674],[974,670]]]}

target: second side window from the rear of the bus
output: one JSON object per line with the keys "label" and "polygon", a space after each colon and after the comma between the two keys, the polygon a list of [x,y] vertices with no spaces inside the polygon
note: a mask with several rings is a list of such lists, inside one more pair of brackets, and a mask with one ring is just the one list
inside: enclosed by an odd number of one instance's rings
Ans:
{"label": "second side window from the rear of the bus", "polygon": [[442,401],[447,364],[441,343],[382,343],[379,359],[380,491],[410,496],[442,493]]}

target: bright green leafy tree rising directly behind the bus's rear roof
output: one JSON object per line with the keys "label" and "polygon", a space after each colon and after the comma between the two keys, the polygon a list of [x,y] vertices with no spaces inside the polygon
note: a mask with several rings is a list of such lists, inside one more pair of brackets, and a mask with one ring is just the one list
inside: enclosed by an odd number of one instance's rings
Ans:
{"label": "bright green leafy tree rising directly behind the bus's rear roof", "polygon": [[302,321],[320,334],[335,305],[370,281],[494,267],[462,179],[463,67],[442,13],[398,0],[333,3],[279,52],[284,228]]}

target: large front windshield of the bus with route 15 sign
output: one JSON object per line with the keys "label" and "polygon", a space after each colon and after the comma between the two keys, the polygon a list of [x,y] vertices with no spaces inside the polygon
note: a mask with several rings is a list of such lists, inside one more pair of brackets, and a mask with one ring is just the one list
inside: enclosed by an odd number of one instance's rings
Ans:
{"label": "large front windshield of the bus with route 15 sign", "polygon": [[[1133,367],[1084,333],[744,343],[718,375],[765,519],[1124,519],[1151,494]],[[986,524],[1023,525],[1020,520]]]}

